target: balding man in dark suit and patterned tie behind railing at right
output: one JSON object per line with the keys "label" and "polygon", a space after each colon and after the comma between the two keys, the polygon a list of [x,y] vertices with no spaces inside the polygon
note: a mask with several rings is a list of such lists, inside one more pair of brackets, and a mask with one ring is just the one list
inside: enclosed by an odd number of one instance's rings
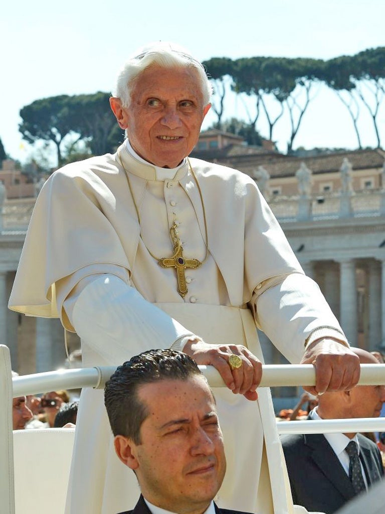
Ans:
{"label": "balding man in dark suit and patterned tie behind railing at right", "polygon": [[[354,351],[361,364],[378,364],[369,352]],[[384,401],[384,386],[324,393],[308,419],[378,417]],[[383,475],[377,446],[361,434],[283,435],[282,446],[293,501],[309,511],[332,514]]]}

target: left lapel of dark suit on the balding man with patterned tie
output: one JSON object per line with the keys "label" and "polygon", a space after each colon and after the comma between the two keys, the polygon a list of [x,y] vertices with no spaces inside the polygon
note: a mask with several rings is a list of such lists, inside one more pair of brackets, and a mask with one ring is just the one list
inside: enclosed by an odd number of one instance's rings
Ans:
{"label": "left lapel of dark suit on the balding man with patterned tie", "polygon": [[347,500],[353,498],[354,490],[349,477],[325,437],[322,434],[306,434],[304,442],[312,449],[311,458],[325,478],[333,484],[343,498]]}

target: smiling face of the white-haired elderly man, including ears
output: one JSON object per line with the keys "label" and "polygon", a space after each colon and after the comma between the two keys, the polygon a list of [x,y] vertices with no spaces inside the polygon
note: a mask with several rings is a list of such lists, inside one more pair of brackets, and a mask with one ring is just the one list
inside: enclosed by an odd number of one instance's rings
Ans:
{"label": "smiling face of the white-haired elderly man, including ears", "polygon": [[143,159],[175,168],[197,143],[210,104],[203,105],[196,70],[152,65],[134,84],[128,109],[118,99],[111,99],[111,107]]}

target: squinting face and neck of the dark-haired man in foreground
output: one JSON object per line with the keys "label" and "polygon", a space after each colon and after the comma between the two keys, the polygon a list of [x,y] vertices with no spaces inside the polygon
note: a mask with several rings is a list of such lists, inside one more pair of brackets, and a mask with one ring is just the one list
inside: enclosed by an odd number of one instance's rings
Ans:
{"label": "squinting face and neck of the dark-haired man in foreground", "polygon": [[139,398],[149,412],[141,426],[141,444],[117,436],[118,455],[136,472],[149,502],[172,512],[203,512],[226,469],[222,432],[207,383],[199,376],[162,380],[142,386]]}

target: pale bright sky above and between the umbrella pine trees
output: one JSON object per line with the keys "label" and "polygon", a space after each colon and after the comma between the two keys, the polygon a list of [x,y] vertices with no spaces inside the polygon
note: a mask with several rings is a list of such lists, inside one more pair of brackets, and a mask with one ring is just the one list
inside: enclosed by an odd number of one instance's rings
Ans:
{"label": "pale bright sky above and between the umbrella pine trees", "polygon": [[[385,46],[384,14],[383,0],[6,0],[0,17],[0,137],[7,153],[25,160],[32,147],[20,148],[17,128],[24,105],[60,94],[109,91],[127,56],[151,41],[175,41],[199,60],[330,59]],[[242,117],[242,105],[225,113],[232,115]],[[363,112],[360,124],[365,133],[362,143],[374,145],[373,128]],[[384,144],[385,105],[379,124]],[[265,132],[263,123],[258,128]],[[282,121],[274,135],[282,150],[287,130]],[[356,144],[345,107],[320,88],[294,146],[355,148]]]}

